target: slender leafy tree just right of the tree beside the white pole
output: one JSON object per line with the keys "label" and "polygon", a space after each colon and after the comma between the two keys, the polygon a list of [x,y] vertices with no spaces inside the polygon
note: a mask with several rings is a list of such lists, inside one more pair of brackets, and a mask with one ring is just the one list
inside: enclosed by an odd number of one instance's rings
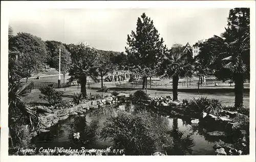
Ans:
{"label": "slender leafy tree just right of the tree beside the white pole", "polygon": [[111,62],[111,57],[108,55],[100,55],[98,61],[98,71],[101,78],[101,88],[103,88],[103,76],[113,72],[115,69],[114,64]]}

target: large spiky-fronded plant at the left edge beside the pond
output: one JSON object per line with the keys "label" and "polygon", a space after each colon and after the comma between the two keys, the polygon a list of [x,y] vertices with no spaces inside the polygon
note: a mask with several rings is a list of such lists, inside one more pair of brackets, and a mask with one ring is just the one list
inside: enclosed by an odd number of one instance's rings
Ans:
{"label": "large spiky-fronded plant at the left edge beside the pond", "polygon": [[39,118],[39,114],[45,112],[32,110],[22,100],[22,97],[30,93],[32,84],[27,83],[22,87],[20,84],[9,84],[9,129],[13,145],[20,144],[26,138],[26,131],[39,131],[45,126]]}

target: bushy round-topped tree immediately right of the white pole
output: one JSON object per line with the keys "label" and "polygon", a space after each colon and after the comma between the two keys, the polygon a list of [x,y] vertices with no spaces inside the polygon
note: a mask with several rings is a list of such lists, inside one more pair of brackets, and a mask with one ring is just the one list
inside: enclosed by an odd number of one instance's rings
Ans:
{"label": "bushy round-topped tree immediately right of the white pole", "polygon": [[90,76],[95,82],[98,82],[98,51],[86,43],[78,43],[70,48],[71,51],[71,69],[69,82],[78,79],[81,84],[81,93],[83,97],[87,96],[86,84],[87,77]]}

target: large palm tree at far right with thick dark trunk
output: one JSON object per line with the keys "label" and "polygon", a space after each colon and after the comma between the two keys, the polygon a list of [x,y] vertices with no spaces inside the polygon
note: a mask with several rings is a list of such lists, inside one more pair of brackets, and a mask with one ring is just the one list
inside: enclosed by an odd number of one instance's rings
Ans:
{"label": "large palm tree at far right with thick dark trunk", "polygon": [[234,106],[240,107],[243,105],[244,80],[248,78],[250,70],[250,34],[249,29],[239,26],[225,30],[221,37],[215,38],[225,51],[220,53],[223,67],[231,72],[234,80]]}

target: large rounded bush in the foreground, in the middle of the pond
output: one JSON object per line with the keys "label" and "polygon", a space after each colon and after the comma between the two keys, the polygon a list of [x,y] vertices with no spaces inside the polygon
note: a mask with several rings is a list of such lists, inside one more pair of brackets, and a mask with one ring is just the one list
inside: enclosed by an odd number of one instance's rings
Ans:
{"label": "large rounded bush in the foreground, in the middle of the pond", "polygon": [[[114,148],[124,149],[125,155],[150,155],[159,144],[173,146],[173,139],[149,113],[118,112],[104,123],[101,139],[111,139]],[[163,138],[164,136],[164,138]]]}

